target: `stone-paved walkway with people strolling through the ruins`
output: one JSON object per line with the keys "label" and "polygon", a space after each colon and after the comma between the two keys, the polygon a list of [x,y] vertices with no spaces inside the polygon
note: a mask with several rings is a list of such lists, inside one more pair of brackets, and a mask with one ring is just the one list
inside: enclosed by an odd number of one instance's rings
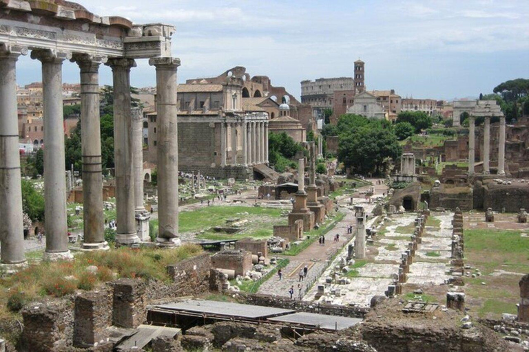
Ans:
{"label": "stone-paved walkway with people strolling through the ruins", "polygon": [[[375,183],[376,182],[373,180],[373,184]],[[360,191],[369,190],[370,187],[371,186],[362,187],[360,188]],[[382,192],[387,192],[386,189],[387,187],[384,185],[375,185],[375,197],[382,195]],[[307,249],[296,256],[283,256],[284,258],[290,259],[290,263],[282,270],[282,280],[279,280],[277,275],[270,278],[259,287],[258,293],[289,297],[289,288],[293,286],[295,292],[293,298],[300,299],[300,297],[302,298],[307,294],[313,283],[320,278],[326,267],[329,266],[329,259],[340,251],[346,243],[353,239],[353,234],[347,234],[346,228],[348,225],[353,225],[354,233],[354,213],[352,210],[344,208],[344,206],[349,205],[350,198],[350,195],[344,195],[338,199],[338,203],[342,207],[340,211],[345,212],[346,215],[332,230],[325,234],[325,245],[322,246],[318,241],[315,241],[309,245]],[[374,202],[366,203],[364,197],[355,198],[354,203],[361,203],[368,213],[370,213],[375,207]],[[340,234],[340,241],[333,241],[335,234]],[[299,281],[299,272],[305,265],[309,267],[307,278],[304,278],[304,281]],[[298,285],[300,286],[298,287]]]}

